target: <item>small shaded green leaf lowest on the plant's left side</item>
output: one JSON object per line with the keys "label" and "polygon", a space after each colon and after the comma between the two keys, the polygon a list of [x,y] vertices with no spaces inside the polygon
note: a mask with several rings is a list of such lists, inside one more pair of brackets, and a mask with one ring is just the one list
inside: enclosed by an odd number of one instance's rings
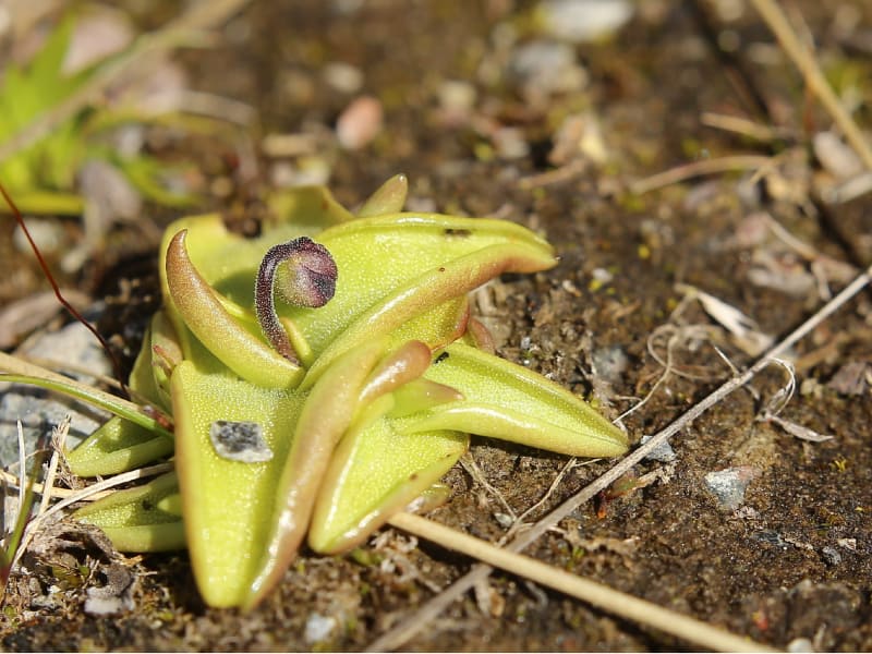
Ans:
{"label": "small shaded green leaf lowest on the plant's left side", "polygon": [[73,516],[102,529],[122,552],[183,549],[184,526],[178,496],[178,480],[171,472],[142,486],[112,493]]}

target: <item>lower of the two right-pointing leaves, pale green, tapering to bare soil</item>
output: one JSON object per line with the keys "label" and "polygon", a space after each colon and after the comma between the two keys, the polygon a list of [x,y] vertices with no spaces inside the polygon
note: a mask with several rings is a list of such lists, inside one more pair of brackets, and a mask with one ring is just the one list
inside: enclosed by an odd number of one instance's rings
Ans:
{"label": "lower of the two right-pointing leaves, pale green, tapering to bare soil", "polygon": [[590,404],[523,366],[462,343],[445,348],[425,377],[463,400],[439,404],[403,427],[409,433],[463,429],[577,457],[617,457],[627,436]]}

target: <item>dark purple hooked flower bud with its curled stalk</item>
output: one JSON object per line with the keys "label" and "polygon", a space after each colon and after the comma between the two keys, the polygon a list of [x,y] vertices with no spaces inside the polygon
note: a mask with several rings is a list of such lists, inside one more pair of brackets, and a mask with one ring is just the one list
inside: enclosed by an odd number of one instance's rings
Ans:
{"label": "dark purple hooked flower bud with its curled stalk", "polygon": [[308,237],[274,245],[261,262],[254,289],[257,322],[276,351],[289,361],[300,363],[276,313],[274,291],[293,306],[316,308],[336,293],[338,275],[327,249]]}

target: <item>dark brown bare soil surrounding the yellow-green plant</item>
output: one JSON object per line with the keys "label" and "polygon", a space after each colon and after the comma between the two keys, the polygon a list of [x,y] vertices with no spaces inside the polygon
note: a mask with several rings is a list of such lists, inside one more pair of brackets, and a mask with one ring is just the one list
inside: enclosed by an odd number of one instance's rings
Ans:
{"label": "dark brown bare soil surrounding the yellow-green plant", "polygon": [[[727,4],[739,13],[724,14]],[[797,1],[791,8],[804,19],[834,78],[853,70],[865,80],[858,93],[867,108],[857,116],[869,128],[872,53],[859,37],[869,38],[872,9],[859,0]],[[559,266],[504,278],[486,299],[479,296],[504,356],[594,398],[616,416],[661,379],[664,367],[649,351],[649,339],[662,326],[674,326],[668,334],[661,329],[652,348],[663,360],[674,337],[674,373],[623,421],[635,444],[728,378],[730,368],[714,344],[737,368],[754,361],[698,303],[681,304],[677,284],[703,290],[752,317],[760,332],[782,337],[823,302],[811,272],[820,269],[820,257],[858,269],[872,262],[872,196],[839,205],[821,199],[829,172],[813,158],[810,143],[831,121],[744,3],[639,3],[611,37],[569,46],[568,63],[549,64],[540,56],[525,77],[510,73],[512,65],[520,70],[521,49],[535,40],[557,43],[543,35],[535,9],[502,0],[253,2],[223,28],[216,47],[180,59],[197,89],[256,109],[256,143],[265,134],[303,133],[316,147],[283,160],[259,157],[257,174],[239,182],[222,169],[221,148],[199,144],[195,150],[213,189],[220,186],[216,179],[232,182],[230,193],[216,192],[204,208],[219,207],[239,229],[254,230],[270,174],[275,181],[315,167],[329,170],[329,186],[350,206],[404,172],[413,208],[496,215],[532,227],[556,245]],[[856,29],[844,26],[851,11]],[[361,87],[337,88],[325,77],[331,62],[362,73]],[[465,102],[469,92],[474,97]],[[358,94],[380,101],[385,126],[368,145],[341,149],[334,128]],[[705,112],[783,130],[774,141],[759,142],[705,124]],[[571,117],[580,135],[560,137]],[[558,144],[565,152],[555,153]],[[744,171],[630,192],[634,181],[656,172],[727,155],[778,158],[758,180]],[[764,213],[810,245],[813,261],[773,235]],[[156,213],[156,223],[166,223],[167,214]],[[102,264],[75,281],[93,294],[114,296],[110,306],[120,304],[118,278],[153,283],[147,271],[156,242],[134,240],[123,230],[113,233],[97,257]],[[38,288],[38,275],[28,275],[3,288],[4,301]],[[832,276],[827,281],[835,290],[845,284]],[[680,315],[673,315],[676,307]],[[129,339],[126,350],[135,351],[131,325],[142,324],[145,313],[134,303],[107,318],[104,329]],[[834,438],[803,440],[775,422],[755,420],[785,384],[784,371],[773,367],[674,437],[674,461],[637,467],[528,553],[777,647],[872,650],[871,327],[864,291],[794,352],[798,392],[780,417]],[[840,382],[851,373],[853,384]],[[566,464],[564,457],[484,439],[474,440],[470,457],[518,513],[547,494]],[[571,468],[528,519],[608,467],[597,461]],[[750,480],[731,507],[705,483],[707,474],[726,469]],[[655,471],[653,483],[640,481],[651,481],[644,475]],[[453,497],[433,518],[497,540],[506,509],[474,477],[469,468],[453,470],[447,477]],[[135,610],[121,616],[83,611],[86,589],[105,581],[99,576],[56,583],[55,602],[43,608],[34,597],[49,594],[50,576],[13,576],[0,617],[2,647],[361,650],[471,566],[426,543],[415,547],[392,530],[366,552],[355,558],[305,553],[279,592],[246,615],[203,606],[184,554],[133,561]],[[336,619],[323,640],[311,635],[317,616]],[[504,573],[403,645],[686,646]]]}

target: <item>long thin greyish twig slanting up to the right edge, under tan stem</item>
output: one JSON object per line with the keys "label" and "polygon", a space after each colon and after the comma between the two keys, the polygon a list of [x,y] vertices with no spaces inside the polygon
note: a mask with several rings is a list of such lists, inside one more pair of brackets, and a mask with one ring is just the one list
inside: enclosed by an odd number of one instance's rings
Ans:
{"label": "long thin greyish twig slanting up to the right edge, under tan stem", "polygon": [[[863,274],[859,275],[851,283],[841,290],[835,298],[824,304],[813,316],[800,325],[797,329],[790,332],[784,340],[770,349],[763,356],[761,356],[753,366],[748,368],[741,375],[737,375],[726,383],[724,383],[717,390],[705,397],[702,401],[691,408],[681,417],[669,424],[662,429],[644,445],[638,447],[625,459],[618,462],[614,468],[608,470],[605,474],[600,476],[593,483],[589,484],[577,493],[571,498],[567,499],[564,504],[554,509],[550,513],[545,516],[542,520],[536,522],[529,531],[520,534],[507,547],[511,552],[520,552],[528,545],[536,541],[547,530],[564,520],[572,511],[576,511],[581,505],[589,501],[601,491],[606,489],[615,481],[620,479],[633,465],[644,459],[652,450],[659,447],[661,444],[667,441],[671,436],[679,431],[687,427],[690,423],[697,420],[705,411],[711,409],[717,402],[726,398],[737,388],[742,387],[763,368],[765,368],[773,359],[778,359],[786,351],[792,348],[801,338],[808,335],[812,329],[818,327],[829,315],[837,311],[843,304],[862,290],[872,279],[872,267],[868,268]],[[424,606],[419,608],[414,614],[407,617],[400,625],[384,633],[382,637],[373,641],[367,647],[367,652],[380,652],[387,650],[396,650],[401,647],[403,643],[413,638],[421,629],[431,625],[432,621],[452,602],[460,598],[467,591],[469,591],[475,583],[485,579],[493,568],[491,566],[480,564],[474,566],[467,574],[461,577],[453,584],[448,586],[439,595],[433,597]]]}

